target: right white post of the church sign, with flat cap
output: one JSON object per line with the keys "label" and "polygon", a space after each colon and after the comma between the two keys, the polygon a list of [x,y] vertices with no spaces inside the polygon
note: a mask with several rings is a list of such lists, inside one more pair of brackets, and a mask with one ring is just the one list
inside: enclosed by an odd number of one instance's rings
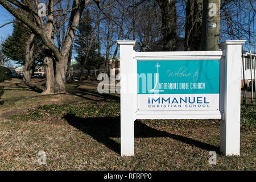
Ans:
{"label": "right white post of the church sign, with flat cap", "polygon": [[224,155],[240,155],[240,102],[241,102],[241,45],[245,40],[229,40],[220,44],[224,52],[221,59],[222,121],[220,151]]}

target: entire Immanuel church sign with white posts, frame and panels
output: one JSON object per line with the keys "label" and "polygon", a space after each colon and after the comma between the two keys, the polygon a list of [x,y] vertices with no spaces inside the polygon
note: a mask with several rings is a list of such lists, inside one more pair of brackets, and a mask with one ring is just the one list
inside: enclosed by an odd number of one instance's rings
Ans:
{"label": "entire Immanuel church sign with white posts, frame and panels", "polygon": [[134,155],[136,119],[223,119],[220,150],[240,155],[240,41],[222,51],[135,52],[118,40],[121,155]]}

